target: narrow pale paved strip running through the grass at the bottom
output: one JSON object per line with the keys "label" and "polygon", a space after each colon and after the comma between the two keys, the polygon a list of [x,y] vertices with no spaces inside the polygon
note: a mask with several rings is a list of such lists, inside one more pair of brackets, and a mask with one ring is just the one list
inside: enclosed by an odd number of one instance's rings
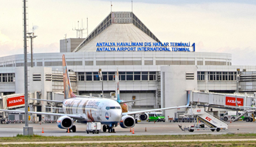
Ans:
{"label": "narrow pale paved strip running through the grass at the bottom", "polygon": [[176,143],[176,142],[227,142],[227,141],[256,141],[256,139],[195,139],[195,140],[156,140],[156,141],[55,141],[55,142],[16,142],[16,143],[0,143],[6,144],[73,144],[73,143]]}

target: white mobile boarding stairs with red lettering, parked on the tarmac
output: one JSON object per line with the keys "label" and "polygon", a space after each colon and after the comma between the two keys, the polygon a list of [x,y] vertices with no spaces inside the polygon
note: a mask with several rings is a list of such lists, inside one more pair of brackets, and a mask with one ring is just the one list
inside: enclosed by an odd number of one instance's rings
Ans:
{"label": "white mobile boarding stairs with red lettering, parked on the tarmac", "polygon": [[211,130],[213,132],[216,130],[219,132],[220,130],[228,129],[227,123],[205,112],[204,108],[195,107],[188,109],[187,116],[193,116],[195,120],[194,125],[189,125],[189,127],[184,128],[182,128],[182,125],[179,125],[179,128],[183,131],[188,130],[189,132],[194,132],[194,130]]}

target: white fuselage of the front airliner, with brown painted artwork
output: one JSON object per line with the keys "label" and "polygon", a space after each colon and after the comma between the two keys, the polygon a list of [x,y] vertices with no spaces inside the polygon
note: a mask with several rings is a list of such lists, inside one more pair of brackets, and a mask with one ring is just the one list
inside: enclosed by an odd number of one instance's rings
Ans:
{"label": "white fuselage of the front airliner, with brown painted artwork", "polygon": [[120,104],[107,98],[68,98],[63,100],[65,114],[79,114],[84,121],[97,121],[104,125],[117,124],[122,117]]}

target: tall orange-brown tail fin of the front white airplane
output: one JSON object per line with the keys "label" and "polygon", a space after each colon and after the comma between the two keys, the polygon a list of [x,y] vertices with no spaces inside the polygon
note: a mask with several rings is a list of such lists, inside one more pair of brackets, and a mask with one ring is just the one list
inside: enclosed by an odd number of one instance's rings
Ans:
{"label": "tall orange-brown tail fin of the front white airplane", "polygon": [[74,97],[76,97],[76,95],[73,93],[72,88],[71,88],[71,83],[69,80],[68,69],[67,69],[67,63],[66,63],[64,54],[62,56],[62,66],[63,66],[64,98],[65,99],[74,98]]}

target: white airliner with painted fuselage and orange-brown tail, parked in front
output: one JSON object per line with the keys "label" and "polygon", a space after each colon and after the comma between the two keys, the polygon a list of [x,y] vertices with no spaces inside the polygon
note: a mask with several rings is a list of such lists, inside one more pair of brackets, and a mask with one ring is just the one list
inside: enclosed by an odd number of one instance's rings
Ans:
{"label": "white airliner with painted fuselage and orange-brown tail, parked in front", "polygon": [[[70,129],[72,132],[76,132],[76,126],[74,121],[79,120],[82,123],[87,122],[100,122],[103,125],[103,132],[115,132],[115,128],[120,124],[122,128],[132,128],[135,125],[135,120],[131,116],[132,114],[140,114],[140,119],[142,121],[148,120],[147,112],[150,111],[161,111],[168,109],[178,109],[178,108],[187,108],[189,106],[189,97],[187,105],[182,105],[178,107],[166,107],[161,109],[149,109],[144,111],[131,111],[131,112],[122,112],[121,105],[115,100],[109,98],[88,98],[88,97],[79,97],[74,95],[70,79],[68,76],[67,63],[65,60],[65,55],[62,56],[63,64],[63,85],[64,85],[64,100],[43,100],[47,102],[61,103],[64,114],[60,113],[51,113],[51,112],[33,112],[29,111],[29,114],[46,114],[52,116],[60,116],[57,120],[57,126],[62,129]],[[119,94],[119,93],[118,93]],[[119,96],[118,96],[119,97]],[[120,98],[118,98],[120,100]],[[0,111],[6,112],[20,112],[16,110],[6,110],[0,109]]]}

